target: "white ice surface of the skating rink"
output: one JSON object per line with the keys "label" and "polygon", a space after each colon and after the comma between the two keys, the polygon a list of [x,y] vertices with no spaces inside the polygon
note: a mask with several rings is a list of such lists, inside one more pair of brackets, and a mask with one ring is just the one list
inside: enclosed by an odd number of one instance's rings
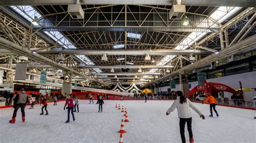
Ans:
{"label": "white ice surface of the skating rink", "polygon": [[[39,115],[41,106],[26,106],[26,121],[21,120],[21,110],[16,123],[10,124],[13,108],[0,109],[0,142],[118,142],[123,112],[114,108],[120,103],[127,108],[130,122],[125,123],[124,142],[181,142],[177,110],[166,116],[173,101],[104,101],[103,113],[98,105],[79,101],[76,121],[66,124],[64,102],[57,106],[48,103],[49,115]],[[96,101],[95,101],[96,103]],[[194,103],[205,115],[203,120],[192,111],[194,142],[255,142],[255,111],[217,106],[220,117],[208,117],[208,104]],[[192,109],[191,109],[192,110]],[[214,114],[215,116],[215,114]],[[188,132],[185,129],[188,142]]]}

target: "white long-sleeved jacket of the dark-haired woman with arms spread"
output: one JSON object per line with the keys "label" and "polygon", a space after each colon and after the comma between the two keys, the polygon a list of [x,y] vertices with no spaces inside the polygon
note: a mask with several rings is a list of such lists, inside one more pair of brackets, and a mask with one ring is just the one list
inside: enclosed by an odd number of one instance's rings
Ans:
{"label": "white long-sleeved jacket of the dark-haired woman with arms spread", "polygon": [[192,108],[194,111],[196,111],[200,116],[203,115],[190,101],[190,99],[187,99],[187,102],[180,104],[179,102],[179,96],[177,99],[173,102],[172,106],[167,110],[167,113],[173,112],[176,108],[178,111],[178,117],[179,118],[191,118],[191,111],[190,108]]}

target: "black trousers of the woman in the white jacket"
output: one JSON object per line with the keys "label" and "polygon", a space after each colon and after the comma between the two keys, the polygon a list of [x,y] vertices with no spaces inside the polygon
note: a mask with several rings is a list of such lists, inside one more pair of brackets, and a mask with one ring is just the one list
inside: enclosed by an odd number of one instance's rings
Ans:
{"label": "black trousers of the woman in the white jacket", "polygon": [[180,137],[182,142],[186,142],[185,139],[185,124],[187,123],[187,130],[188,134],[190,135],[190,138],[193,138],[191,123],[192,123],[192,117],[191,118],[179,118],[179,130],[180,130]]}

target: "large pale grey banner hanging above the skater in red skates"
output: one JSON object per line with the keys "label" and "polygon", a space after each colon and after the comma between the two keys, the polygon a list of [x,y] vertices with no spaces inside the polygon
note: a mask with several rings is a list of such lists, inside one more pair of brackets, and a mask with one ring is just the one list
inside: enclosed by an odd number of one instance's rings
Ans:
{"label": "large pale grey banner hanging above the skater in red skates", "polygon": [[16,64],[14,80],[26,80],[26,66],[28,66],[27,63]]}

